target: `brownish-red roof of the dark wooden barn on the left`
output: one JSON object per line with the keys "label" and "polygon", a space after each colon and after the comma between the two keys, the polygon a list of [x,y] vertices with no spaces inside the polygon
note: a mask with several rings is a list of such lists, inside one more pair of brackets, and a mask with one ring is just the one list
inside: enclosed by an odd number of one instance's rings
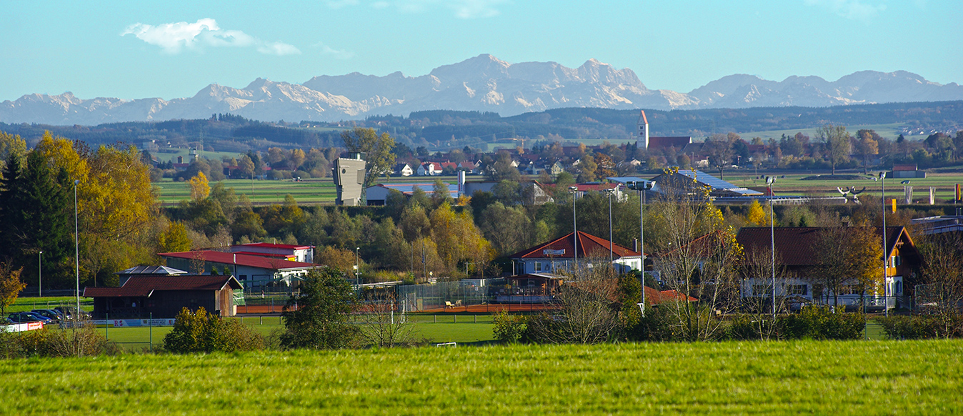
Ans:
{"label": "brownish-red roof of the dark wooden barn on the left", "polygon": [[230,287],[231,289],[244,288],[234,276],[212,274],[178,276],[135,275],[128,278],[121,287],[85,288],[84,298],[146,298],[157,291],[219,291],[225,287]]}

